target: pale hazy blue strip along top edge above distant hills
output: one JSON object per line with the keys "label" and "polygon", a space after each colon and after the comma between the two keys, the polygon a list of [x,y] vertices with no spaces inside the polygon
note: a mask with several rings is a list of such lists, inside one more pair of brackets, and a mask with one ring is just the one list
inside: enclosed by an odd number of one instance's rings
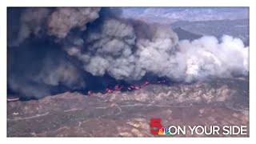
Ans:
{"label": "pale hazy blue strip along top edge above distant hills", "polygon": [[246,7],[130,7],[122,8],[126,18],[175,22],[248,18]]}

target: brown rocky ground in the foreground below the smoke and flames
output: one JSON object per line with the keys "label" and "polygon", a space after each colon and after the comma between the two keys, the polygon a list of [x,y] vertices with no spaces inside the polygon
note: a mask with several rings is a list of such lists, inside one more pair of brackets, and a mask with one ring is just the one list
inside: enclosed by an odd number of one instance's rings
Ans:
{"label": "brown rocky ground in the foreground below the smoke and flames", "polygon": [[[162,118],[163,126],[246,125],[249,129],[248,84],[248,78],[213,78],[110,94],[66,92],[8,102],[7,136],[152,137],[150,118]],[[199,136],[223,135],[177,135]]]}

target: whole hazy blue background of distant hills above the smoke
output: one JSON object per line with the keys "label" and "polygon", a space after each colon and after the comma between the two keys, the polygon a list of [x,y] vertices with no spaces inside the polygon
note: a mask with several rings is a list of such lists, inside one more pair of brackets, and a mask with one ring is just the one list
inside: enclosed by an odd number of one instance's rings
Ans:
{"label": "whole hazy blue background of distant hills above the smoke", "polygon": [[179,39],[223,34],[249,45],[249,9],[246,7],[123,7],[123,18],[170,25]]}

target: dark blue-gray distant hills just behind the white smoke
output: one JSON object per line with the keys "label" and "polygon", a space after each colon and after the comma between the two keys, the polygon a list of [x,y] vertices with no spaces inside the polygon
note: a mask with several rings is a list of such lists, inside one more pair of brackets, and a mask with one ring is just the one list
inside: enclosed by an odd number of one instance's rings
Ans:
{"label": "dark blue-gray distant hills just behind the white smoke", "polygon": [[182,28],[193,34],[213,35],[221,38],[223,34],[228,34],[236,38],[241,38],[246,46],[249,45],[249,19],[216,20],[216,21],[178,21],[171,24],[174,29]]}

